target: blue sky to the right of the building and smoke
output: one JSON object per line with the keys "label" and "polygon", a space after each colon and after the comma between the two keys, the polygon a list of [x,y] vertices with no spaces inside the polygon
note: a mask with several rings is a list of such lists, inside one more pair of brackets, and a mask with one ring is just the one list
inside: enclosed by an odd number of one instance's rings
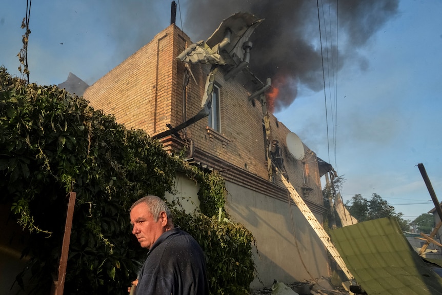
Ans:
{"label": "blue sky to the right of the building and smoke", "polygon": [[344,174],[344,200],[356,193],[367,199],[377,193],[414,220],[434,207],[416,166],[423,163],[442,201],[441,9],[440,1],[401,1],[399,13],[361,52],[369,60],[368,69],[350,65],[338,72],[334,122],[327,97],[330,157],[324,91],[298,95],[289,109],[276,113]]}

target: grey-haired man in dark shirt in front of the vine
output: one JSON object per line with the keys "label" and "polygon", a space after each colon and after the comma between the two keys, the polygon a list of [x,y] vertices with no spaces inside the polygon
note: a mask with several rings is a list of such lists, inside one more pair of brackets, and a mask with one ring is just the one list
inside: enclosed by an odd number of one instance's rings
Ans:
{"label": "grey-haired man in dark shirt in front of the vine", "polygon": [[139,244],[149,249],[134,282],[137,295],[209,294],[203,250],[190,234],[173,225],[163,200],[148,195],[133,203],[130,223]]}

